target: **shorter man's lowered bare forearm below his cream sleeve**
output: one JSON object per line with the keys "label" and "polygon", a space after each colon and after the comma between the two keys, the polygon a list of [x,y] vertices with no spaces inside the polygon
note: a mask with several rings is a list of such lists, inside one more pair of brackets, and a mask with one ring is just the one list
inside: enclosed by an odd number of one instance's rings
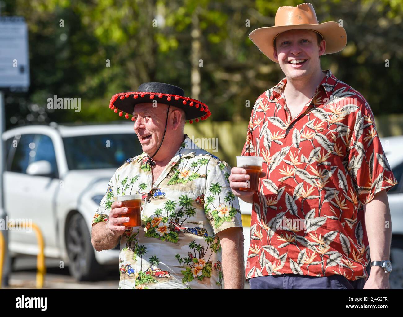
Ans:
{"label": "shorter man's lowered bare forearm below his cream sleeve", "polygon": [[[243,232],[239,227],[229,228],[231,234],[219,236],[222,250],[222,272],[225,289],[243,289],[245,267],[243,264]],[[227,231],[227,230],[224,230]],[[221,232],[220,232],[221,233]]]}

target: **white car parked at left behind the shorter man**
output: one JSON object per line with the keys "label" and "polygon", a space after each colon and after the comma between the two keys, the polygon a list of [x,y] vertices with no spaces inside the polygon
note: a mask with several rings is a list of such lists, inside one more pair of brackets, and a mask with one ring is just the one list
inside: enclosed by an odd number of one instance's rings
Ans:
{"label": "white car parked at left behind the shorter man", "polygon": [[[125,160],[142,152],[133,124],[31,125],[3,133],[4,209],[27,219],[44,236],[45,256],[69,265],[77,280],[118,265],[119,246],[94,252],[91,222],[108,181]],[[9,230],[10,256],[37,255],[35,232]]]}

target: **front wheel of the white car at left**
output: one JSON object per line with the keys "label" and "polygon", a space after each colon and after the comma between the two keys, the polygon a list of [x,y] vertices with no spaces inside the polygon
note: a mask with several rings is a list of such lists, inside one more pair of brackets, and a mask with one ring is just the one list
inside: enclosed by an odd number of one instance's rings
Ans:
{"label": "front wheel of the white car at left", "polygon": [[99,279],[101,267],[96,261],[91,235],[83,216],[75,213],[66,227],[66,249],[69,271],[78,281]]}

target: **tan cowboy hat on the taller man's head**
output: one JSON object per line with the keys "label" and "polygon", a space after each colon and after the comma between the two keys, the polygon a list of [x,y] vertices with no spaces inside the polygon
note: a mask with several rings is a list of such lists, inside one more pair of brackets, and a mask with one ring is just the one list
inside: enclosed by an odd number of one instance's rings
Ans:
{"label": "tan cowboy hat on the taller man's head", "polygon": [[297,6],[280,6],[274,19],[274,27],[261,27],[253,30],[249,38],[270,60],[274,59],[273,41],[276,36],[288,30],[306,29],[316,31],[326,41],[324,54],[337,53],[345,48],[347,34],[339,23],[330,21],[320,23],[316,19],[314,6],[310,3],[298,4]]}

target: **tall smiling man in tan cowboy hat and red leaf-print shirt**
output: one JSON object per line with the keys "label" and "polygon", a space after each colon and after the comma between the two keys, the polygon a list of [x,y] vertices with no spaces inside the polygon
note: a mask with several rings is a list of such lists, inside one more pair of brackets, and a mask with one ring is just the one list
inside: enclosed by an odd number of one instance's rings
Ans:
{"label": "tall smiling man in tan cowboy hat and red leaf-print shirt", "polygon": [[249,121],[243,153],[264,160],[258,193],[239,191],[244,169],[230,176],[234,193],[253,202],[251,288],[388,288],[386,191],[397,181],[368,102],[320,68],[320,55],[345,47],[345,30],[318,24],[304,3],[278,8],[275,26],[249,37],[285,73]]}

